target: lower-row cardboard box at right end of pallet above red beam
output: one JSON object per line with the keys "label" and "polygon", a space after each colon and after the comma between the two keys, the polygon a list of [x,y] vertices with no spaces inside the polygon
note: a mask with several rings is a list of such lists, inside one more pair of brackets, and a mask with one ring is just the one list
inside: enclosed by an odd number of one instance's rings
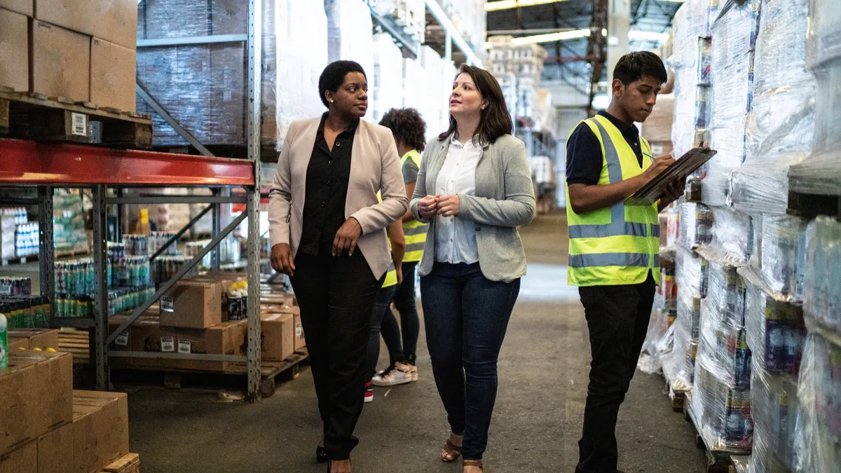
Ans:
{"label": "lower-row cardboard box at right end of pallet above red beam", "polygon": [[124,112],[136,109],[135,50],[106,40],[91,40],[91,102]]}

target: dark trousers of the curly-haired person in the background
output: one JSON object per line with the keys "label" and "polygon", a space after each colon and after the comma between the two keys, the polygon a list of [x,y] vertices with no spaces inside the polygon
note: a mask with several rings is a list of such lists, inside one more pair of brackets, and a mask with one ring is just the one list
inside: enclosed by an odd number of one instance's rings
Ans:
{"label": "dark trousers of the curly-haired person in the background", "polygon": [[[403,263],[403,284],[397,286],[394,295],[394,306],[400,312],[400,323],[389,308],[383,316],[383,334],[385,346],[389,348],[391,364],[415,364],[415,351],[418,346],[418,334],[421,332],[421,318],[415,302],[415,268],[418,263]],[[402,337],[401,337],[402,332]]]}

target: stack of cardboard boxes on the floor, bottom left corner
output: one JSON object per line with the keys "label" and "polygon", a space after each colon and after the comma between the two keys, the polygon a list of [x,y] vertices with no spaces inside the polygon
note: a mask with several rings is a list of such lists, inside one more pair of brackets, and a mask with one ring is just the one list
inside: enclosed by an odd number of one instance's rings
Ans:
{"label": "stack of cardboard boxes on the floor, bottom left corner", "polygon": [[0,472],[92,473],[129,453],[127,396],[73,391],[69,353],[16,351],[0,371]]}

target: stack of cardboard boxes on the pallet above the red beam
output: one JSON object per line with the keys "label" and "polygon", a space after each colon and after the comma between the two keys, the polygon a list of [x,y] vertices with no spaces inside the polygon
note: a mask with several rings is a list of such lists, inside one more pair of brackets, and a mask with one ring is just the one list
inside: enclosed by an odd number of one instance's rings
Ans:
{"label": "stack of cardboard boxes on the pallet above the red beam", "polygon": [[0,86],[135,111],[135,0],[0,0]]}

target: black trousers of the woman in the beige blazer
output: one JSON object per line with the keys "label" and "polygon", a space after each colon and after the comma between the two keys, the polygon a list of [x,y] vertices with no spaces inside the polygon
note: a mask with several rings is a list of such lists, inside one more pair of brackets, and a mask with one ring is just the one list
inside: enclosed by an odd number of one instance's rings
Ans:
{"label": "black trousers of the woman in the beige blazer", "polygon": [[347,460],[359,443],[353,429],[362,413],[371,308],[382,280],[374,278],[358,248],[352,257],[320,254],[326,256],[299,253],[291,281],[301,309],[327,455]]}

